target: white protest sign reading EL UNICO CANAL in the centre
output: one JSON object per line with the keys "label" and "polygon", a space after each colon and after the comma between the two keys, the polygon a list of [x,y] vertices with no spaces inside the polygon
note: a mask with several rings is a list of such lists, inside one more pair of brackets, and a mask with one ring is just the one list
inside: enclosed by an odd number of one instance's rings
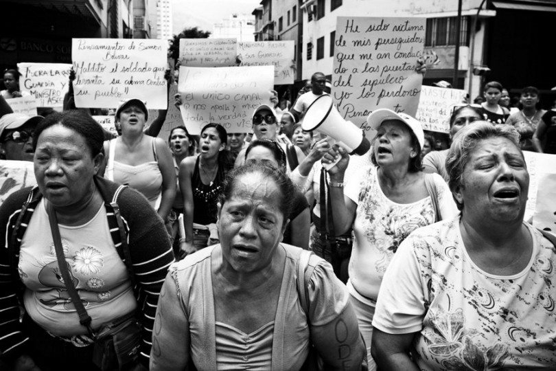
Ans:
{"label": "white protest sign reading EL UNICO CANAL in the centre", "polygon": [[187,130],[199,135],[202,126],[216,122],[228,133],[249,133],[251,115],[259,104],[270,103],[274,67],[181,67],[178,92]]}

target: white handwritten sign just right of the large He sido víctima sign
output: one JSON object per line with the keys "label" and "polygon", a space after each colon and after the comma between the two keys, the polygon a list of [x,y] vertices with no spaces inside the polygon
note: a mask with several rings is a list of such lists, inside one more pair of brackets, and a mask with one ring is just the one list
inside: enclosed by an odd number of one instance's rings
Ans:
{"label": "white handwritten sign just right of the large He sido v\u00edctima sign", "polygon": [[439,87],[421,87],[421,97],[415,118],[423,130],[450,132],[450,115],[456,104],[461,104],[467,91]]}

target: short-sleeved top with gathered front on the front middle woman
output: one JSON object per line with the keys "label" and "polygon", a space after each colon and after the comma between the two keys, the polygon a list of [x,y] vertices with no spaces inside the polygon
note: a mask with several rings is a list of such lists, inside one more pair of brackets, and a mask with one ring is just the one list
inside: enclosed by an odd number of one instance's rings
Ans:
{"label": "short-sleeved top with gathered front on the front middle woman", "polygon": [[189,355],[199,371],[299,370],[310,350],[312,326],[345,315],[349,294],[329,263],[314,254],[308,284],[308,315],[299,302],[297,262],[302,249],[280,244],[286,251],[275,320],[253,333],[216,322],[209,246],[170,266],[184,315],[189,322]]}

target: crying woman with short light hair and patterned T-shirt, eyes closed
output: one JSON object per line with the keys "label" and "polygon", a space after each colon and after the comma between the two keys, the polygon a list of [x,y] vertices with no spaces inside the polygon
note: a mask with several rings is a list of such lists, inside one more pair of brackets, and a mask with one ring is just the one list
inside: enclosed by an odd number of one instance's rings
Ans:
{"label": "crying woman with short light hair and patterned T-shirt, eyes closed", "polygon": [[380,368],[553,370],[556,240],[523,221],[518,140],[487,122],[454,138],[446,168],[461,215],[417,229],[386,271],[373,319]]}

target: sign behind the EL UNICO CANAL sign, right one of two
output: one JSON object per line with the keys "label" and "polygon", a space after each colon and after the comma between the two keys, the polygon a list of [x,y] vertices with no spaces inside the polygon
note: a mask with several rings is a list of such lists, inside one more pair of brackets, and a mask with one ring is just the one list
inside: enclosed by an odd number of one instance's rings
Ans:
{"label": "sign behind the EL UNICO CANAL sign, right one of two", "polygon": [[238,43],[242,66],[274,66],[274,85],[293,84],[294,41]]}

